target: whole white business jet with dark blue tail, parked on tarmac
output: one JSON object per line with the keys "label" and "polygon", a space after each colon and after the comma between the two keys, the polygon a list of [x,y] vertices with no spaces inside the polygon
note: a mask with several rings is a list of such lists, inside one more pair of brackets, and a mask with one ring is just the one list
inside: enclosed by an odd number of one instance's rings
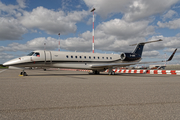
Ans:
{"label": "whole white business jet with dark blue tail, parked on tarmac", "polygon": [[[114,75],[112,70],[114,67],[124,67],[135,64],[148,64],[155,62],[171,61],[175,51],[166,61],[154,61],[154,62],[140,62],[143,47],[147,43],[159,42],[161,39],[155,41],[141,42],[136,45],[136,48],[131,53],[119,54],[100,54],[100,53],[82,53],[82,52],[62,52],[62,51],[45,51],[36,50],[29,53],[26,56],[19,57],[8,62],[5,62],[4,66],[14,67],[40,67],[40,68],[69,68],[69,69],[87,69],[92,70],[94,74],[99,74],[106,69],[109,69],[108,74]],[[132,45],[132,46],[134,46]],[[20,73],[26,76],[26,72]]]}

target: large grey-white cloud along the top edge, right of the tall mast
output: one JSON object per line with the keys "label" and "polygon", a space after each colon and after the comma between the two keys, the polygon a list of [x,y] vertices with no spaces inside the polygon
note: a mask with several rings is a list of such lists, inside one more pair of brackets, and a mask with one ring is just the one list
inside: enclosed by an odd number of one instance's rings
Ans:
{"label": "large grey-white cloud along the top edge, right of the tall mast", "polygon": [[136,21],[161,14],[179,0],[84,0],[89,8],[95,7],[96,13],[107,17],[113,13],[123,13],[123,18]]}

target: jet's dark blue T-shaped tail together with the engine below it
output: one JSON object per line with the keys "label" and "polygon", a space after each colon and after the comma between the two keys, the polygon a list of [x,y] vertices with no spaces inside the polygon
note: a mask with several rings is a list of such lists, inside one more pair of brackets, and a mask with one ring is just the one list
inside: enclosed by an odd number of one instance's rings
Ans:
{"label": "jet's dark blue T-shaped tail together with the engine below it", "polygon": [[147,43],[159,42],[159,41],[162,41],[162,40],[159,39],[159,40],[155,40],[155,41],[149,41],[149,42],[142,42],[142,43],[138,43],[138,44],[133,44],[131,46],[136,45],[135,50],[132,53],[122,53],[120,55],[121,60],[122,61],[139,61],[139,60],[141,60],[144,45],[147,44]]}

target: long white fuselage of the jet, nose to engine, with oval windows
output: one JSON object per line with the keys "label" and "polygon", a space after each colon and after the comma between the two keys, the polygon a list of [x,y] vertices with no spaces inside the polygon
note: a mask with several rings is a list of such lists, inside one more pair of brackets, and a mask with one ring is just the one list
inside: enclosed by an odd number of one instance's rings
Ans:
{"label": "long white fuselage of the jet, nose to engine, with oval windows", "polygon": [[56,68],[74,68],[104,70],[107,68],[91,68],[90,65],[99,65],[105,63],[121,63],[118,54],[100,54],[100,53],[81,53],[81,52],[61,52],[61,51],[43,51],[37,50],[39,56],[29,55],[16,58],[4,63],[5,66],[16,67],[56,67]]}

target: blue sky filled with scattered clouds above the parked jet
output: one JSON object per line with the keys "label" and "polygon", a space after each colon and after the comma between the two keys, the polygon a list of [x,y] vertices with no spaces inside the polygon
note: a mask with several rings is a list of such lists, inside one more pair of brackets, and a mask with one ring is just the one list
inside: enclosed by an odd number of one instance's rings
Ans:
{"label": "blue sky filled with scattered clouds above the parked jet", "polygon": [[[144,48],[143,61],[162,60],[180,48],[179,0],[0,0],[0,64],[44,49],[131,52],[130,44],[163,39]],[[180,50],[171,64],[180,63]]]}

